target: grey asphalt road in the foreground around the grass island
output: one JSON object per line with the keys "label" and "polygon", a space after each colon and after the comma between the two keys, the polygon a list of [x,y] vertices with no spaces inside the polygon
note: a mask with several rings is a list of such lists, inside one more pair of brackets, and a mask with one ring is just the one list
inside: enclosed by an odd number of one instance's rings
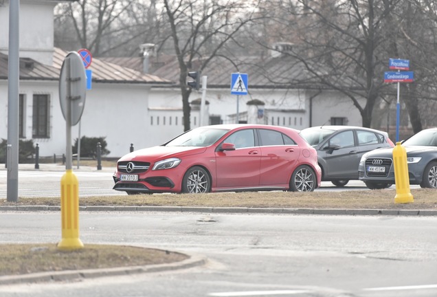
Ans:
{"label": "grey asphalt road in the foreground around the grass island", "polygon": [[[0,296],[437,296],[437,218],[87,212],[80,239],[201,254],[177,272],[0,286]],[[1,242],[60,239],[52,212],[0,213]]]}

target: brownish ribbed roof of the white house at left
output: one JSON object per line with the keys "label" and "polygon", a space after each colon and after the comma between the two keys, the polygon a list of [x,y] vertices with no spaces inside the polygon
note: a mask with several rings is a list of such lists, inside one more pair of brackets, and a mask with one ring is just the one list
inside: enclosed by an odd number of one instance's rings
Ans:
{"label": "brownish ribbed roof of the white house at left", "polygon": [[[31,58],[20,58],[20,80],[59,80],[67,52],[54,49],[53,65],[44,65]],[[145,83],[151,85],[171,85],[172,82],[152,74],[143,74],[135,69],[122,67],[94,58],[91,63],[93,82],[98,83]],[[0,80],[8,79],[8,55],[0,53]]]}

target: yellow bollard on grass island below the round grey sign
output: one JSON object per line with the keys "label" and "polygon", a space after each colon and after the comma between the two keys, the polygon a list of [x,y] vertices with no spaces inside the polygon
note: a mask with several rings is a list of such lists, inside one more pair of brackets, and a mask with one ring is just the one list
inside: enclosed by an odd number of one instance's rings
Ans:
{"label": "yellow bollard on grass island below the round grey sign", "polygon": [[67,169],[60,179],[60,213],[63,238],[58,243],[58,249],[83,248],[79,239],[79,182],[71,169]]}

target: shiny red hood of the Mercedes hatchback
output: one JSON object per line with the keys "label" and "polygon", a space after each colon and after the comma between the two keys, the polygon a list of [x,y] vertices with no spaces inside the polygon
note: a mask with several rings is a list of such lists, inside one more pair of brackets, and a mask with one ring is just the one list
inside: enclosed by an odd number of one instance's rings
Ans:
{"label": "shiny red hood of the Mercedes hatchback", "polygon": [[196,155],[206,151],[206,147],[199,146],[152,146],[133,151],[121,157],[118,161],[145,161],[153,162],[156,159],[166,159],[168,157],[184,157]]}

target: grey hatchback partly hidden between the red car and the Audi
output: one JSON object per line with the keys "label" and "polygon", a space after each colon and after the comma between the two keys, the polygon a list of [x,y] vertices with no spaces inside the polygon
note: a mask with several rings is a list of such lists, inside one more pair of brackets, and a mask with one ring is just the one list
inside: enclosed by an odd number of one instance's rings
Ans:
{"label": "grey hatchback partly hidden between the red car and the Audi", "polygon": [[392,148],[388,133],[359,126],[314,126],[300,135],[317,150],[322,181],[345,186],[358,179],[361,156],[377,148]]}

